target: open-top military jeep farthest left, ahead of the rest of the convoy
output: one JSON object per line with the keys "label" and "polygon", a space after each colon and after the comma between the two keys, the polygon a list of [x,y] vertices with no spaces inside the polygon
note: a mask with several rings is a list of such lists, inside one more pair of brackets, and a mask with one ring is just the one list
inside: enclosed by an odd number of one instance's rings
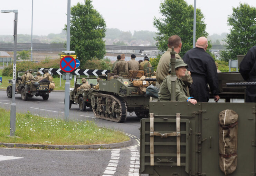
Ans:
{"label": "open-top military jeep farthest left, ahead of the rest of the convoy", "polygon": [[[28,70],[31,71],[32,75],[35,76],[38,70]],[[28,72],[27,71],[27,72]],[[49,88],[50,81],[33,81],[33,80],[22,80],[21,76],[27,74],[26,71],[18,71],[16,76],[16,87],[15,94],[21,94],[22,100],[28,100],[28,97],[41,96],[43,100],[48,100],[49,93],[53,89]],[[25,76],[26,77],[26,76]],[[45,81],[45,82],[44,82]],[[8,80],[8,83],[11,84],[7,87],[6,93],[9,98],[12,97],[12,80]]]}

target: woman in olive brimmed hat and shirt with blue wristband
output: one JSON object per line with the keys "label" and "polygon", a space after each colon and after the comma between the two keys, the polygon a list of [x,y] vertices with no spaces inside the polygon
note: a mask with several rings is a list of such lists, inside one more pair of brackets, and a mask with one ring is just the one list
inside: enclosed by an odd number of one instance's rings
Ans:
{"label": "woman in olive brimmed hat and shirt with blue wristband", "polygon": [[[158,92],[158,99],[159,101],[171,101],[171,65],[169,66],[169,73],[168,75],[164,78],[160,90]],[[175,62],[175,71],[177,75],[177,80],[176,80],[176,94],[175,94],[175,99],[176,101],[180,102],[185,102],[188,101],[192,104],[196,104],[197,100],[191,99],[189,97],[188,92],[187,92],[187,86],[184,84],[184,82],[181,80],[182,76],[185,76],[185,73],[187,71],[188,65],[185,64],[181,59],[176,59]]]}

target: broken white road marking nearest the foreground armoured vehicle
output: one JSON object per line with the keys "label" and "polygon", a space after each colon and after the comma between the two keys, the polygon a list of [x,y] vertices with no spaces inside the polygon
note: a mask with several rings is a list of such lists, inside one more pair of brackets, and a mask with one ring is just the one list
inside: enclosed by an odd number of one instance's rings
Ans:
{"label": "broken white road marking nearest the foreground armoured vehicle", "polygon": [[139,176],[140,153],[137,148],[131,148],[130,151],[132,157],[128,176]]}

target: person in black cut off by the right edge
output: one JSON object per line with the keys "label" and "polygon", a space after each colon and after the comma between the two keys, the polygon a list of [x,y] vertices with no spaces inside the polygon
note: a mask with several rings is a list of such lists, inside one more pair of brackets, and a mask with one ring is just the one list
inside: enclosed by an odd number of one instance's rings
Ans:
{"label": "person in black cut off by the right edge", "polygon": [[[240,63],[239,72],[246,82],[256,82],[256,46],[249,49]],[[245,102],[256,102],[256,86],[246,86]]]}

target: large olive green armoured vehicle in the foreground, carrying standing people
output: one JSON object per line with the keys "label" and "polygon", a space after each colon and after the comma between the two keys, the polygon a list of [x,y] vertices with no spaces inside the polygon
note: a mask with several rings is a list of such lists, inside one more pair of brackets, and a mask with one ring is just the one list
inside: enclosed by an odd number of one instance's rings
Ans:
{"label": "large olive green armoured vehicle in the foreground, carrying standing people", "polygon": [[[230,80],[222,77],[221,82],[243,81],[239,73],[225,74]],[[219,86],[225,103],[149,103],[150,118],[141,120],[140,173],[256,175],[256,103],[229,103],[230,98],[243,98],[245,87]]]}

